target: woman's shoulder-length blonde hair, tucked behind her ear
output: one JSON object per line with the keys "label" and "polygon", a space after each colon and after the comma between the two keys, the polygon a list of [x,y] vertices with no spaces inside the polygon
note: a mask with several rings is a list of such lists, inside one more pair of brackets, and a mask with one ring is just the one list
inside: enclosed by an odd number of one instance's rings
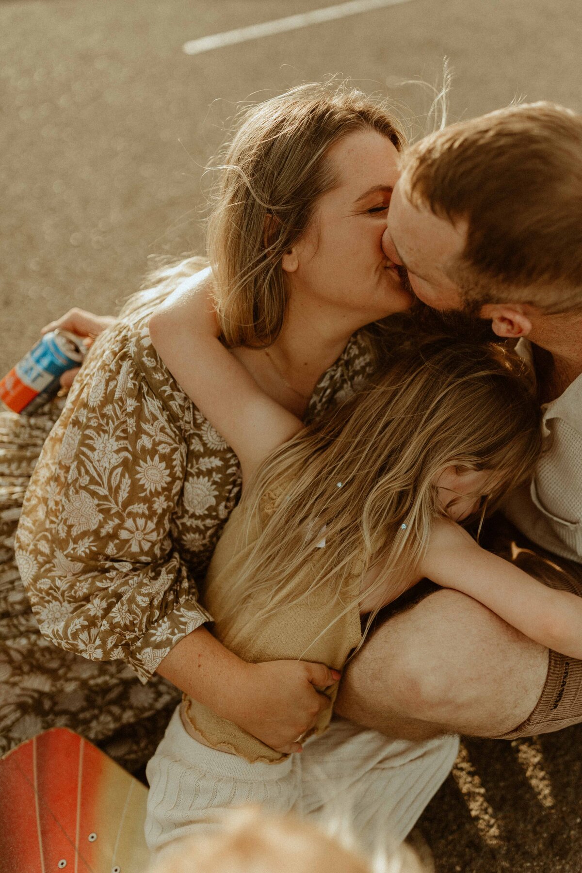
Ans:
{"label": "woman's shoulder-length blonde hair, tucked behind her ear", "polygon": [[[207,252],[227,346],[268,346],[283,326],[281,260],[309,227],[318,199],[339,179],[327,152],[348,134],[373,130],[401,151],[405,136],[386,100],[343,82],[291,88],[247,107],[216,161]],[[164,299],[200,270],[201,258],[161,265],[123,314]]]}

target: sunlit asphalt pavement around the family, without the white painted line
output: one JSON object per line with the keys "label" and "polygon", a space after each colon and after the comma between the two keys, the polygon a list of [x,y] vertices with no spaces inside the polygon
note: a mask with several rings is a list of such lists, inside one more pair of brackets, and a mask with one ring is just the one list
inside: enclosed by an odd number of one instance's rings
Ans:
{"label": "sunlit asphalt pavement around the family, without the white painted line", "polygon": [[[70,306],[113,312],[148,258],[203,251],[205,172],[242,100],[340,74],[421,135],[516,98],[582,111],[579,0],[406,0],[188,55],[325,0],[0,0],[0,374]],[[440,873],[582,871],[582,728],[467,739],[421,820]]]}

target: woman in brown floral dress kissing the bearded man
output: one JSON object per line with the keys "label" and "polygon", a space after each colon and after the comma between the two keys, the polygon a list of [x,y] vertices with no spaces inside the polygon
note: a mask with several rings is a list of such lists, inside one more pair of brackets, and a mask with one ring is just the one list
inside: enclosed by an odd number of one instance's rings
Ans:
{"label": "woman in brown floral dress kissing the bearded man", "polygon": [[[223,331],[264,390],[305,421],[372,368],[373,332],[359,328],[410,303],[380,247],[402,142],[382,107],[315,86],[251,110],[225,155],[209,227]],[[38,687],[43,705],[59,702],[32,732],[58,720],[106,739],[136,711],[166,706],[174,692],[152,683],[167,677],[287,748],[324,705],[313,684],[334,681],[322,665],[244,663],[204,627],[195,581],[236,504],[239,465],[147,333],[154,299],[194,270],[188,261],[168,272],[95,342],[33,474],[17,556],[53,663],[49,673],[37,660],[36,685],[16,708],[20,718],[27,706],[38,712]],[[91,682],[79,673],[69,682],[61,650],[106,663],[75,660]],[[12,676],[27,660],[19,650]],[[129,705],[119,695],[126,665],[149,680],[130,689]],[[86,705],[95,676],[100,709]],[[3,732],[10,741],[10,725]]]}

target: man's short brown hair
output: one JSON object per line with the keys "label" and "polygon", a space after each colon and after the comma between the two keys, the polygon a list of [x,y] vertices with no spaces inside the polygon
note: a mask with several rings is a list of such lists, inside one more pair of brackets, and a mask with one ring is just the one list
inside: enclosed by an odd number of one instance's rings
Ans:
{"label": "man's short brown hair", "polygon": [[468,224],[448,271],[468,306],[582,306],[582,115],[506,107],[428,136],[401,163],[411,203]]}

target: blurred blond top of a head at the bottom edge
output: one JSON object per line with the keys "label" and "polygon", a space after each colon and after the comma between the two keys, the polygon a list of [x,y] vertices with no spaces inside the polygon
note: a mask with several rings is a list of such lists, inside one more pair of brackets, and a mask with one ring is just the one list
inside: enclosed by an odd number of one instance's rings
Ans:
{"label": "blurred blond top of a head at the bottom edge", "polygon": [[[379,852],[373,863],[292,815],[230,811],[218,833],[178,841],[150,873],[422,873],[411,849]],[[342,843],[345,843],[345,839]]]}

